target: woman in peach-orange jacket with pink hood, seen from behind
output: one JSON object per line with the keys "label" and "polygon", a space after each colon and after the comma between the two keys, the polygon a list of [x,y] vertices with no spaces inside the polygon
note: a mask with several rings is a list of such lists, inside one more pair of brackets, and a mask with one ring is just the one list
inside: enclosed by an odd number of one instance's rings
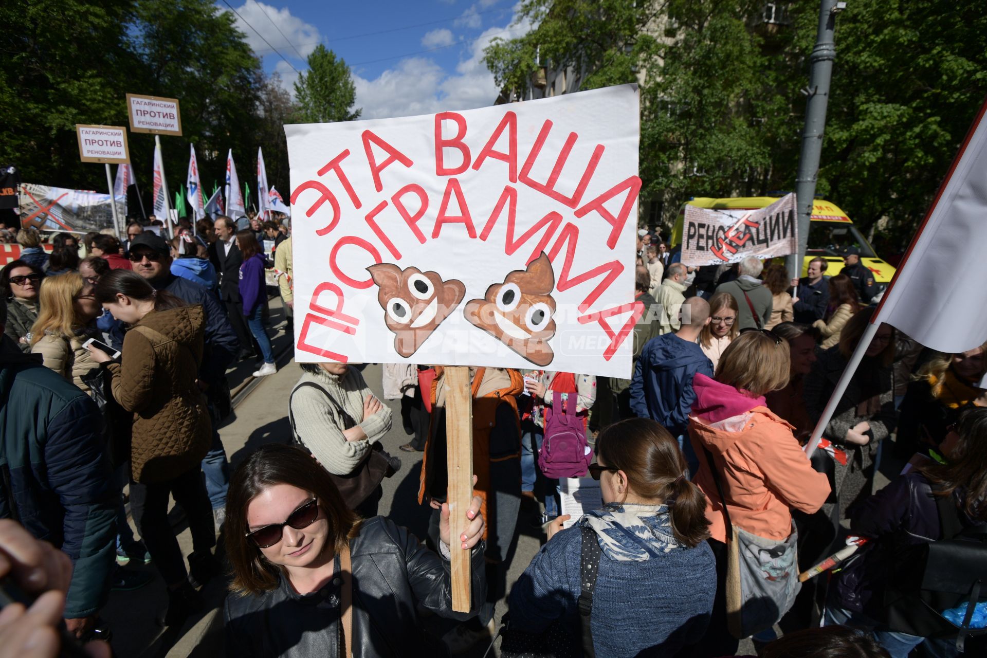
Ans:
{"label": "woman in peach-orange jacket with pink hood, seen from behind", "polygon": [[812,470],[792,425],[765,404],[764,394],[789,383],[790,361],[789,344],[780,335],[744,329],[723,352],[716,379],[698,374],[693,382],[689,436],[699,456],[695,482],[709,499],[706,516],[718,580],[710,630],[693,653],[697,658],[732,656],[737,649],[726,623],[724,503],[733,526],[784,542],[792,534],[792,509],[812,514],[829,495],[826,475]]}

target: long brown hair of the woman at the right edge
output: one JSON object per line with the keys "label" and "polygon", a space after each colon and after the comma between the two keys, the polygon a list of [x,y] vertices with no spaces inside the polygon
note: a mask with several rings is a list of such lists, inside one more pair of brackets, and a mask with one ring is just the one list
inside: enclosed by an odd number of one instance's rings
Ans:
{"label": "long brown hair of the woman at the right edge", "polygon": [[921,466],[918,471],[940,496],[963,489],[963,511],[978,521],[987,520],[987,408],[976,406],[959,416],[959,441],[946,464]]}

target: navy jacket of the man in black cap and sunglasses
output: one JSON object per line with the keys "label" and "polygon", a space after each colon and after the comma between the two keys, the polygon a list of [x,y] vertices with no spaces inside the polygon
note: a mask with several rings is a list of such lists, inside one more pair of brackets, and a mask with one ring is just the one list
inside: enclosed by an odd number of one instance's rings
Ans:
{"label": "navy jacket of the man in black cap and sunglasses", "polygon": [[170,292],[186,304],[202,305],[205,313],[205,351],[199,376],[210,385],[226,377],[226,368],[233,362],[239,348],[237,335],[226,318],[219,300],[205,286],[194,281],[175,276],[166,276],[151,281],[156,290]]}

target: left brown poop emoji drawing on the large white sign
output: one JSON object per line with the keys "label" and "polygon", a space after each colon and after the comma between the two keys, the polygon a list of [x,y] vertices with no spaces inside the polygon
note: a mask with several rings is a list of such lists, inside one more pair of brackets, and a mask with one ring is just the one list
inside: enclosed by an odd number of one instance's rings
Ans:
{"label": "left brown poop emoji drawing on the large white sign", "polygon": [[384,262],[367,267],[377,284],[384,324],[394,331],[394,348],[408,358],[466,296],[462,281],[443,281],[438,272],[401,269]]}

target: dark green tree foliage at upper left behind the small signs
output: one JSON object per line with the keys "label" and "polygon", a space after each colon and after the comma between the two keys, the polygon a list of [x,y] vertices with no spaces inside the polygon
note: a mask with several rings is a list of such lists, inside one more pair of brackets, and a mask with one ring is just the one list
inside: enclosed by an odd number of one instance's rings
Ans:
{"label": "dark green tree foliage at upper left behind the small signs", "polygon": [[[206,191],[222,182],[230,148],[254,187],[259,146],[268,182],[288,190],[282,126],[294,105],[211,0],[7,0],[0,54],[0,164],[20,167],[26,182],[105,189],[103,168],[79,162],[75,124],[128,125],[132,93],[181,102],[183,136],[161,138],[173,191],[190,143]],[[149,210],[154,138],[130,134],[129,147]]]}

